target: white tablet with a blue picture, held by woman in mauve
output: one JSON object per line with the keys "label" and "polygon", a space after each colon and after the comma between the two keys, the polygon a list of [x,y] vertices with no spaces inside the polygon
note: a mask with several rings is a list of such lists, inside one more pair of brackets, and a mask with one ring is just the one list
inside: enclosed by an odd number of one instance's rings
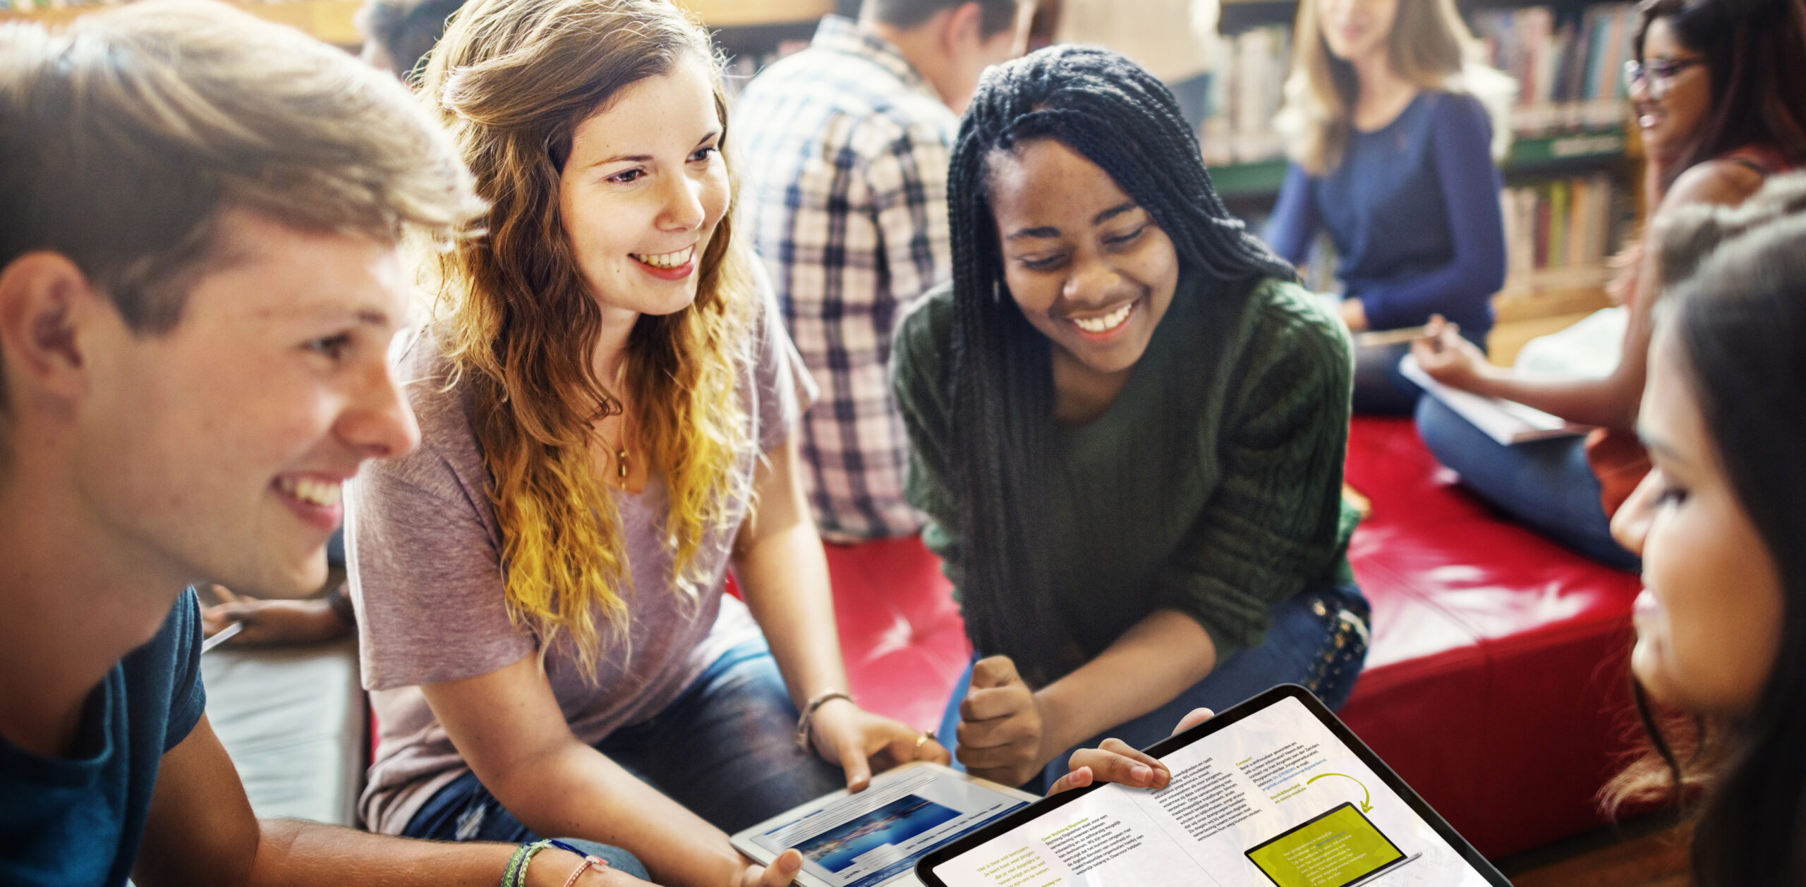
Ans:
{"label": "white tablet with a blue picture, held by woman in mauve", "polygon": [[769,865],[802,851],[800,887],[916,885],[916,860],[986,822],[1040,800],[1035,795],[917,761],[811,800],[735,835],[733,849]]}

